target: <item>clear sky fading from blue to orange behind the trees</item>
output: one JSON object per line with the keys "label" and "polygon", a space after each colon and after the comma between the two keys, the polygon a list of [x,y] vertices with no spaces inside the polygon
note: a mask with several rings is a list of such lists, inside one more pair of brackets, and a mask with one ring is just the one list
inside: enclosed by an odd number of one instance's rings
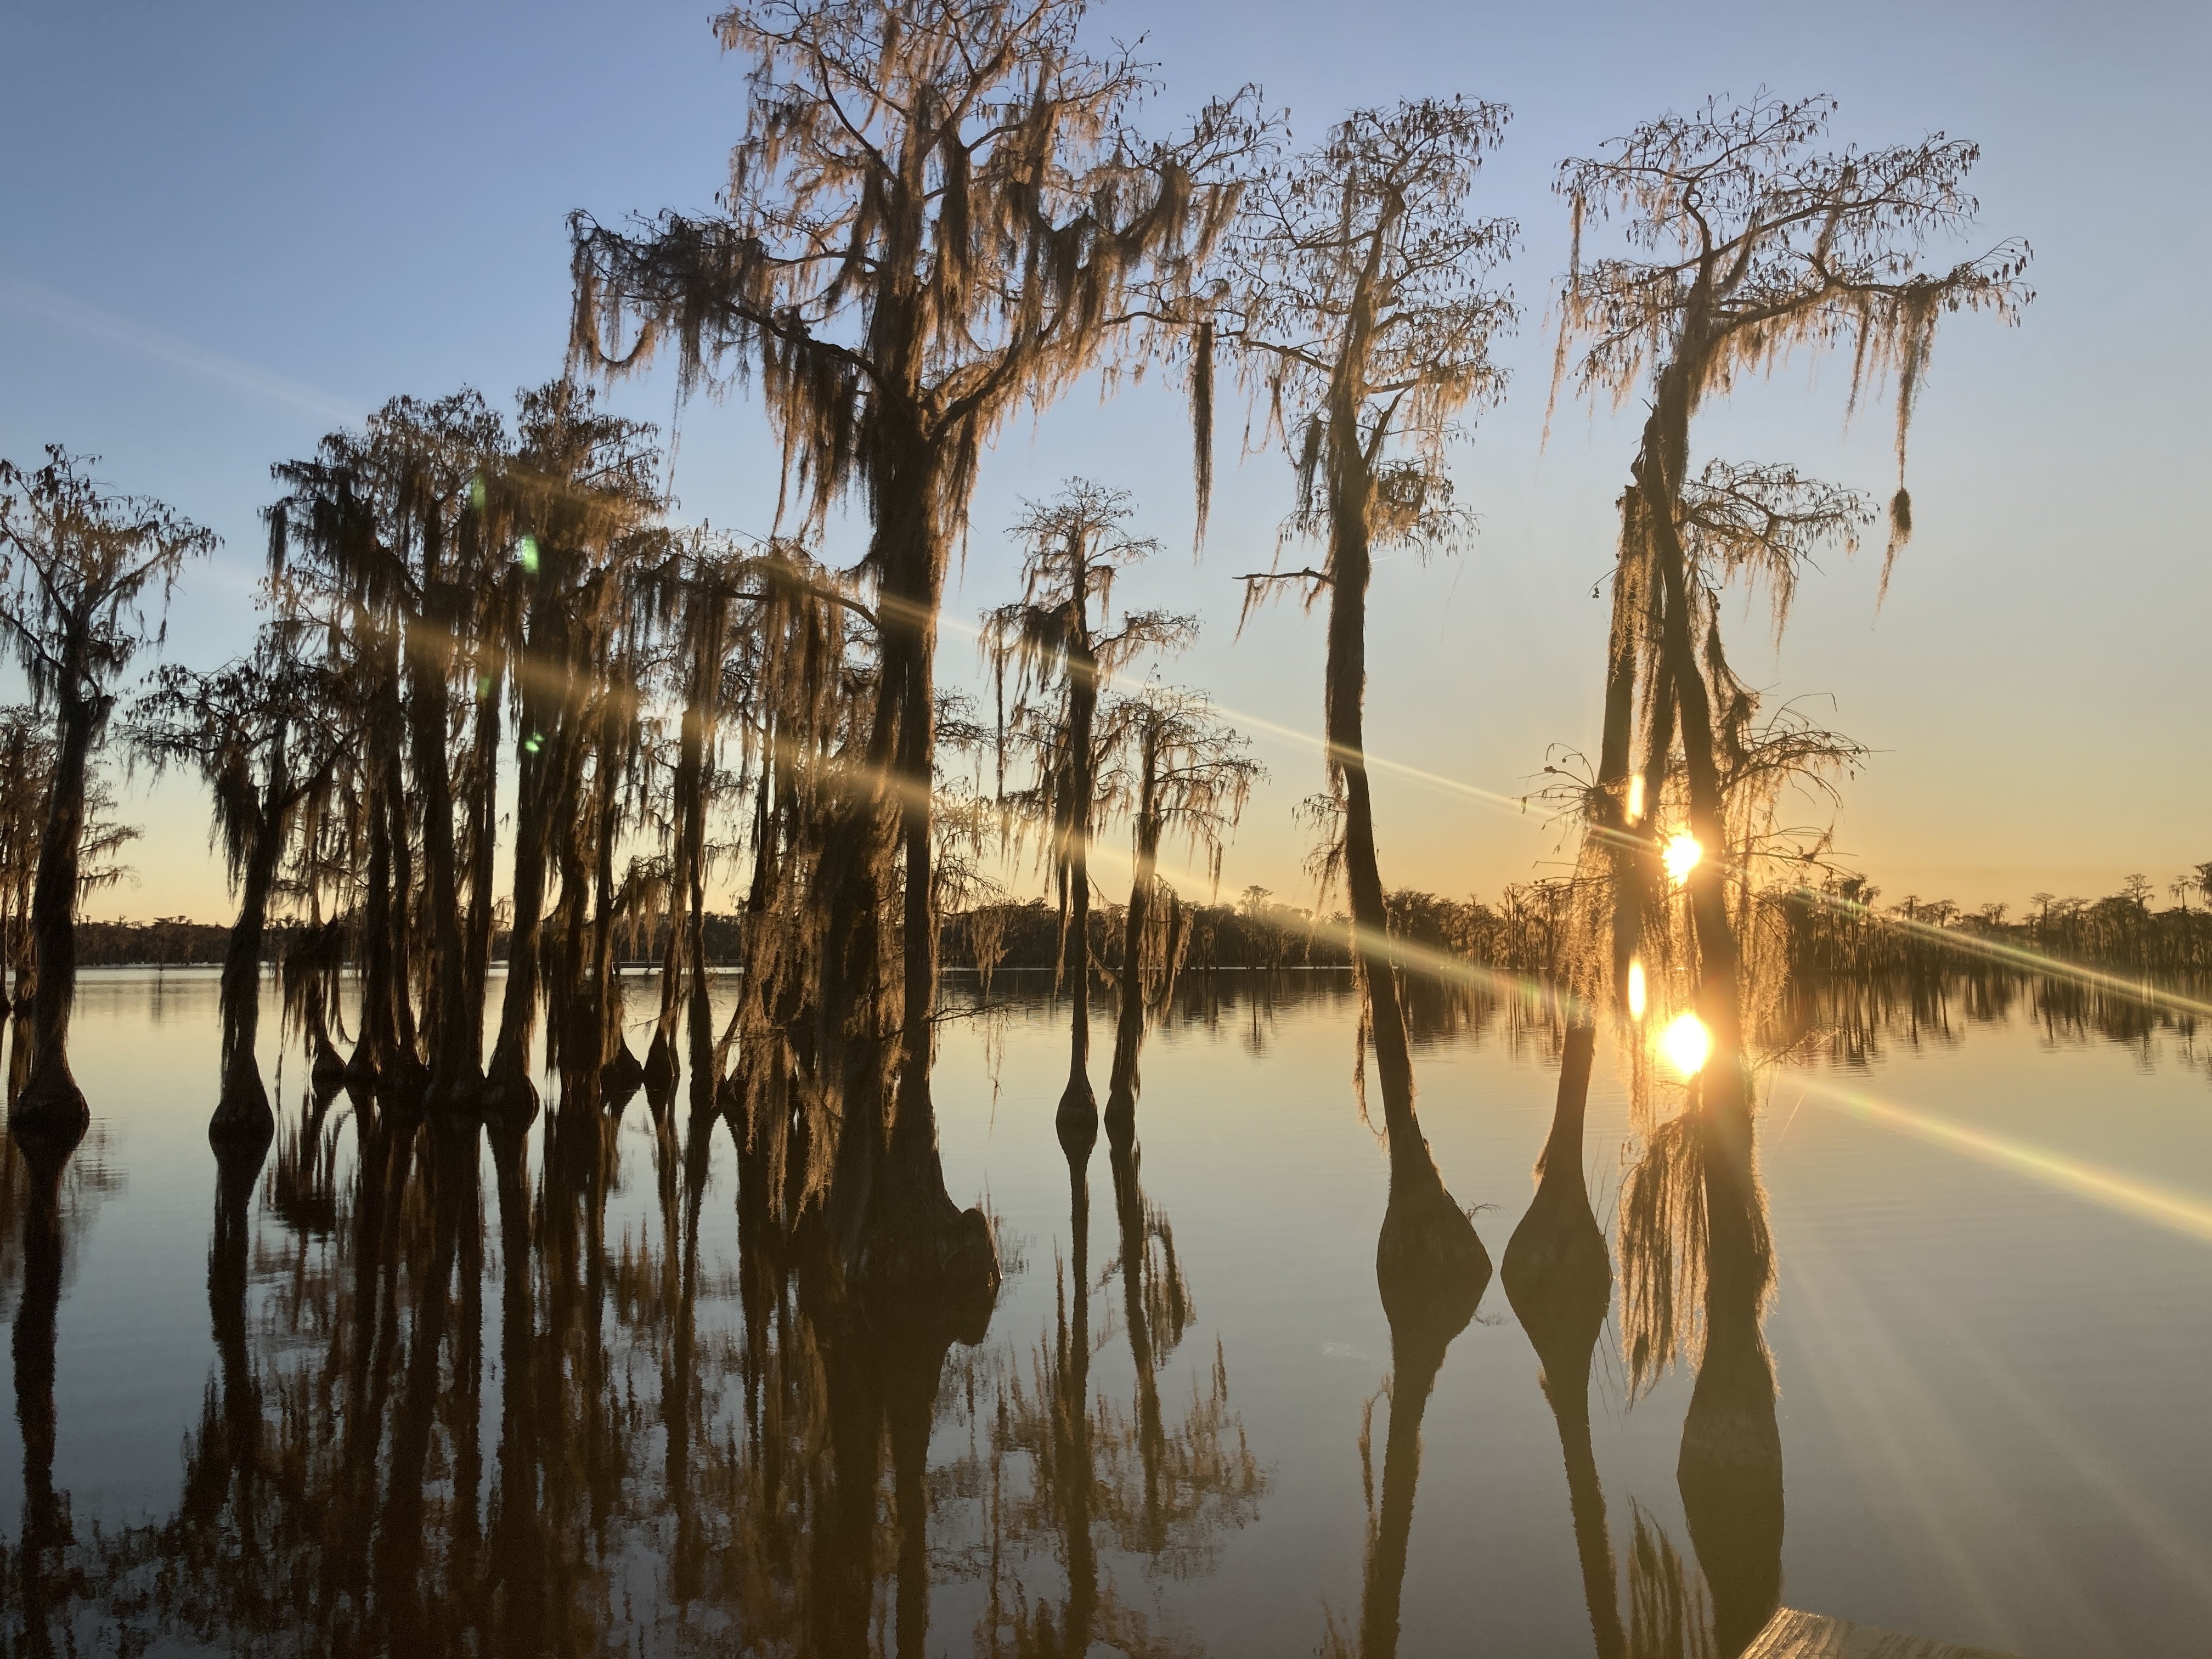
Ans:
{"label": "clear sky fading from blue to orange behind the trees", "polygon": [[[1369,741],[1500,796],[1553,743],[1595,745],[1613,500],[1639,409],[1562,407],[1542,445],[1546,299],[1566,259],[1564,155],[1708,93],[1834,93],[1836,137],[1929,128],[1982,144],[1986,237],[2026,237],[2022,327],[1944,325],[1913,431],[1916,540],[1876,611],[1880,549],[1798,593],[1783,650],[1736,622],[1739,670],[1878,754],[1849,783],[1838,847],[1889,898],[2159,887],[2212,858],[2201,730],[2212,664],[2203,493],[2212,268],[2201,119],[2212,9],[2197,4],[1164,4],[1119,0],[1097,33],[1146,35],[1166,126],[1243,80],[1314,139],[1354,104],[1464,91],[1515,119],[1480,186],[1513,215],[1524,307],[1509,400],[1453,458],[1480,533],[1460,557],[1378,566]],[[270,462],[398,392],[502,400],[560,369],[564,215],[701,208],[741,124],[741,64],[697,0],[204,7],[11,0],[0,11],[0,453],[55,440],[113,484],[215,526],[168,655],[215,664],[252,630]],[[1940,250],[1949,252],[1949,250]],[[1847,365],[1801,361],[1714,405],[1701,453],[1794,460],[1889,489],[1889,429],[1845,429]],[[672,376],[617,403],[668,420]],[[1279,456],[1234,460],[1203,562],[1190,544],[1188,429],[1157,387],[1077,392],[987,460],[949,622],[1011,595],[1018,500],[1068,473],[1128,487],[1170,549],[1119,591],[1206,617],[1168,675],[1312,732],[1321,628],[1296,606],[1237,633],[1239,571],[1263,568],[1290,504]],[[681,418],[686,518],[765,529],[774,460],[743,400]],[[856,551],[841,524],[827,549]],[[945,635],[945,670],[973,675]],[[1274,779],[1225,885],[1303,891],[1292,805],[1318,754],[1261,734]],[[131,783],[137,885],[97,914],[226,914],[197,787]],[[1389,885],[1495,894],[1555,867],[1562,832],[1411,779],[1378,779]]]}

